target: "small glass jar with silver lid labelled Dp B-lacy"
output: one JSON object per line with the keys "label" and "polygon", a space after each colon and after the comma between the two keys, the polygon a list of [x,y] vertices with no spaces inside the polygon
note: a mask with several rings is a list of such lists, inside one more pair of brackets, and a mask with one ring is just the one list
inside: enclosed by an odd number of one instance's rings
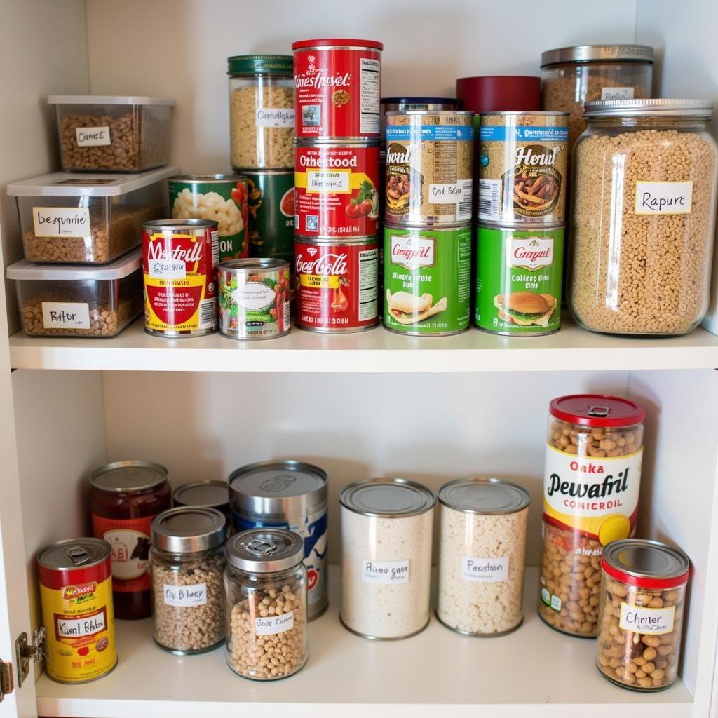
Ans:
{"label": "small glass jar with silver lid labelled Dp B-lacy", "polygon": [[167,651],[202,653],[223,642],[226,519],[180,506],[152,521],[149,554],[154,640]]}

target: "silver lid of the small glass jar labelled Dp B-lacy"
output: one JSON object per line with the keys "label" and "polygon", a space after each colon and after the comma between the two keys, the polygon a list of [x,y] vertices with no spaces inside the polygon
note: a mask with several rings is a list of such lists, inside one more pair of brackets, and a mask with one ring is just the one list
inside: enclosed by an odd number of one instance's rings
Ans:
{"label": "silver lid of the small glass jar labelled Dp B-lacy", "polygon": [[225,540],[223,513],[208,506],[168,508],[152,519],[152,545],[170,554],[195,554],[221,546]]}

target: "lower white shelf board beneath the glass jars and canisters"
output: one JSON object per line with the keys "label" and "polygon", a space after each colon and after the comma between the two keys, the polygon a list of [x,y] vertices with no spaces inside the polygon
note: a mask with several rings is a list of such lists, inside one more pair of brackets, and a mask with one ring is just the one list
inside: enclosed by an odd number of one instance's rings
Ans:
{"label": "lower white shelf board beneath the glass jars and canisters", "polygon": [[309,662],[282,681],[258,683],[225,665],[224,648],[178,657],[151,638],[151,620],[118,621],[117,668],[93,683],[67,686],[42,675],[42,716],[111,718],[688,718],[692,698],[678,681],[638,694],[611,684],[594,665],[595,642],[544,625],[534,609],[537,569],[526,575],[526,620],[500,638],[472,638],[432,616],[414,638],[371,641],[339,623],[339,570],[330,572],[330,608],[309,625]]}

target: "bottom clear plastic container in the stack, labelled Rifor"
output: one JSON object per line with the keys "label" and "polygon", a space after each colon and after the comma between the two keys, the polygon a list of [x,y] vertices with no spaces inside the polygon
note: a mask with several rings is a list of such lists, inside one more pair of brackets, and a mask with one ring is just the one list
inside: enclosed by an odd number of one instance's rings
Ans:
{"label": "bottom clear plastic container in the stack, labelled Rifor", "polygon": [[103,267],[32,264],[7,268],[22,328],[34,337],[113,337],[142,311],[141,250]]}

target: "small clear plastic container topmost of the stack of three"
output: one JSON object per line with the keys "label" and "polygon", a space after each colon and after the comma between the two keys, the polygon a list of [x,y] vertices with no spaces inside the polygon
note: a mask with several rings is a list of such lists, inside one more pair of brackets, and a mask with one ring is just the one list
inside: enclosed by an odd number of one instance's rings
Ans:
{"label": "small clear plastic container topmost of the stack of three", "polygon": [[127,95],[50,95],[67,172],[142,172],[169,162],[174,100]]}

